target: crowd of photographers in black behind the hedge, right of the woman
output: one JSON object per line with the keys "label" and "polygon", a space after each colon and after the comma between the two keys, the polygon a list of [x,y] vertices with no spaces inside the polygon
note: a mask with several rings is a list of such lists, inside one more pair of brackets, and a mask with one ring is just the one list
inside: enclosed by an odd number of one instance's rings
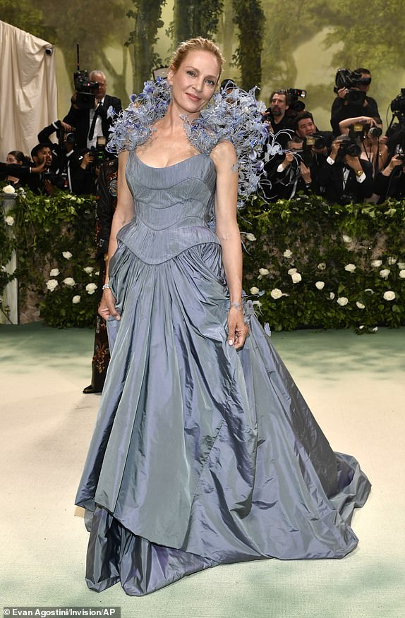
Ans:
{"label": "crowd of photographers in black behind the hedge, right of the woman", "polygon": [[291,199],[298,191],[343,205],[405,196],[405,89],[391,102],[392,121],[382,135],[377,102],[368,95],[370,83],[366,68],[337,71],[332,131],[316,126],[303,101],[305,90],[272,92],[263,115],[269,126],[263,153],[267,200]]}

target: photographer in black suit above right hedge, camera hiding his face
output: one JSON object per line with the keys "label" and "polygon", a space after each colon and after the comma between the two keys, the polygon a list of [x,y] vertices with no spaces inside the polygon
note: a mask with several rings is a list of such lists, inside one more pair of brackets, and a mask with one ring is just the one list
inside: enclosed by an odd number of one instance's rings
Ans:
{"label": "photographer in black suit above right hedge, camera hiding his face", "polygon": [[360,159],[356,135],[341,135],[332,143],[326,162],[320,167],[320,193],[332,204],[360,203],[373,192],[373,166]]}

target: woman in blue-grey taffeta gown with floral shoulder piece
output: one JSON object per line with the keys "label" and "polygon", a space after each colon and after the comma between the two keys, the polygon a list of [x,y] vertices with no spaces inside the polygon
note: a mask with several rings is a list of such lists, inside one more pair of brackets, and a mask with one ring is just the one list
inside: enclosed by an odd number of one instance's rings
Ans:
{"label": "woman in blue-grey taffeta gown with floral shoulder piece", "polygon": [[217,564],[342,557],[357,543],[349,521],[368,480],[330,449],[251,303],[243,315],[236,201],[254,156],[236,151],[254,97],[207,106],[221,67],[211,42],[181,44],[170,102],[147,85],[152,127],[137,99],[112,140],[127,150],[99,312],[119,327],[76,497],[93,511],[97,591],[121,581],[143,595]]}

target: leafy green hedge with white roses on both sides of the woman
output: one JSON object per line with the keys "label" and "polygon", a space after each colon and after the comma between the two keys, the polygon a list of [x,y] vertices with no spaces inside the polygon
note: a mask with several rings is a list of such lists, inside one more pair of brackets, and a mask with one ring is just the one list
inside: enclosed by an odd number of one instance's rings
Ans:
{"label": "leafy green hedge with white roses on both sides of the woman", "polygon": [[[396,200],[340,206],[315,195],[270,204],[251,198],[239,214],[243,285],[260,320],[274,330],[405,325],[404,222],[405,202]],[[0,217],[0,293],[16,247],[20,294],[37,295],[42,320],[91,327],[94,236],[94,198],[18,193],[8,223]]]}

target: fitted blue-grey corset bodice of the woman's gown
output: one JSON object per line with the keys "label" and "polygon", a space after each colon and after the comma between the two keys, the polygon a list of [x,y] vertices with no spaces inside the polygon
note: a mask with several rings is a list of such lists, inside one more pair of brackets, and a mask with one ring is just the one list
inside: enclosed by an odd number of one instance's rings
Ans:
{"label": "fitted blue-grey corset bodice of the woman's gown", "polygon": [[150,167],[134,152],[126,180],[135,215],[118,234],[147,264],[165,262],[201,243],[219,243],[208,226],[214,212],[215,166],[206,154],[164,168]]}

